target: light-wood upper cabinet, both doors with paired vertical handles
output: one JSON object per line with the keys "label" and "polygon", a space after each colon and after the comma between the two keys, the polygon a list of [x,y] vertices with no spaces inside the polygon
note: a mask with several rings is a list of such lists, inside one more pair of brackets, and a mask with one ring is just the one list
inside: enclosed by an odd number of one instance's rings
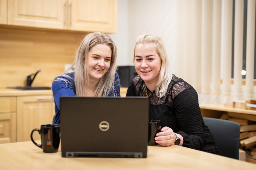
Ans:
{"label": "light-wood upper cabinet, both doors with paired vertical handles", "polygon": [[7,25],[114,33],[117,0],[8,0]]}

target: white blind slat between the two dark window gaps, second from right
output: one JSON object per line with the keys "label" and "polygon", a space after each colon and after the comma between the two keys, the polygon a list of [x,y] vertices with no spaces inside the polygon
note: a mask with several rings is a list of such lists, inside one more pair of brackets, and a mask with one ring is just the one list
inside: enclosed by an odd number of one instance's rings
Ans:
{"label": "white blind slat between the two dark window gaps, second from right", "polygon": [[234,28],[234,99],[242,100],[243,69],[243,0],[235,1],[235,28]]}

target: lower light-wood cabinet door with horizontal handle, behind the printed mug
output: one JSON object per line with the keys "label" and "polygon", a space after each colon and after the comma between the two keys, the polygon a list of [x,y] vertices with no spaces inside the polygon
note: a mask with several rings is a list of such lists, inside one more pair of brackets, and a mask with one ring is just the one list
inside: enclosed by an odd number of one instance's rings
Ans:
{"label": "lower light-wood cabinet door with horizontal handle, behind the printed mug", "polygon": [[[42,124],[51,124],[54,105],[51,96],[17,97],[17,142],[30,141],[33,129]],[[33,133],[34,140],[41,140],[39,133]]]}

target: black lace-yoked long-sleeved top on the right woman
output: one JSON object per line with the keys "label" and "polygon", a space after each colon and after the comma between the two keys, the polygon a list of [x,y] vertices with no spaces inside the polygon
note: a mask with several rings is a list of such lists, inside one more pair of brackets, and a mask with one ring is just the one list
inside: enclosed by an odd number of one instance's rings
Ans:
{"label": "black lace-yoked long-sleeved top on the right woman", "polygon": [[[126,96],[146,96],[146,90],[144,81],[136,76],[130,82]],[[149,102],[149,119],[160,120],[161,127],[170,127],[181,134],[182,146],[218,154],[214,138],[203,122],[197,92],[191,85],[173,75],[167,93],[159,98],[153,92]]]}

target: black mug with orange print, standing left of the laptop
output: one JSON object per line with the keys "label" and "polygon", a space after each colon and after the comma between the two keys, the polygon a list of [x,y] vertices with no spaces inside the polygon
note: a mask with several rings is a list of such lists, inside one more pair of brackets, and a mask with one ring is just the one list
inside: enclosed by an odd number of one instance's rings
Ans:
{"label": "black mug with orange print, standing left of the laptop", "polygon": [[[39,145],[33,140],[33,132],[38,131],[41,135],[42,145]],[[33,129],[30,135],[32,142],[43,149],[43,152],[54,153],[58,152],[60,145],[60,124],[43,124],[41,129]]]}

